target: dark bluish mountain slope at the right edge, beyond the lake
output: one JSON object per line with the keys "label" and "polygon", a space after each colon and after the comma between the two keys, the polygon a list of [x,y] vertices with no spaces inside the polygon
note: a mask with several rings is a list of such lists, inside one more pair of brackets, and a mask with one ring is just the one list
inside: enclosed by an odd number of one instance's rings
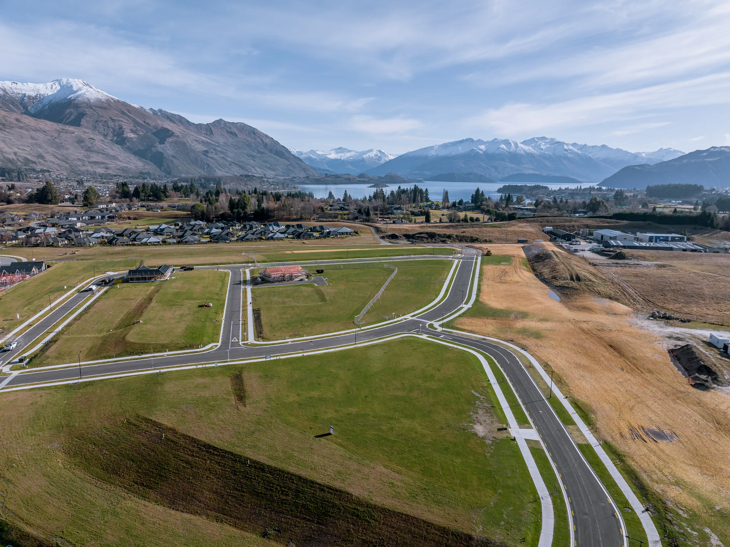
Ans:
{"label": "dark bluish mountain slope at the right edge, beyond the lake", "polygon": [[610,188],[646,188],[655,184],[730,186],[730,146],[695,150],[654,165],[623,167],[601,183]]}

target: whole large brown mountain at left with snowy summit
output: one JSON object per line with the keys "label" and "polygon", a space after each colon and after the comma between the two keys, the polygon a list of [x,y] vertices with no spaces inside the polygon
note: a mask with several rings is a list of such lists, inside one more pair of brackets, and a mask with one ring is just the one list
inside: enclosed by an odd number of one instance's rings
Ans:
{"label": "whole large brown mountain at left with snowy summit", "polygon": [[191,123],[69,79],[0,82],[0,164],[77,174],[317,175],[245,123]]}

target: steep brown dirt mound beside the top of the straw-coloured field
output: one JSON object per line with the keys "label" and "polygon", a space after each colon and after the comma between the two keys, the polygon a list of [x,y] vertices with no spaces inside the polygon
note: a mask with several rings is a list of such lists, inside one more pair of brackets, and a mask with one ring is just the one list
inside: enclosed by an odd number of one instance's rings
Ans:
{"label": "steep brown dirt mound beside the top of the straw-coloured field", "polygon": [[631,302],[621,288],[598,272],[585,259],[545,247],[540,243],[525,245],[523,250],[532,271],[550,286],[588,290],[622,304]]}

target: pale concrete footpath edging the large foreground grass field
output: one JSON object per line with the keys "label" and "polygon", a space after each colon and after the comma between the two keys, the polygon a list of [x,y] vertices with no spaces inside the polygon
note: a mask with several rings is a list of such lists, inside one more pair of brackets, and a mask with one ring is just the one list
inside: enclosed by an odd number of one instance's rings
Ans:
{"label": "pale concrete footpath edging the large foreground grass field", "polygon": [[[323,350],[315,350],[315,351],[307,351],[303,353],[291,353],[288,355],[280,355],[280,356],[272,356],[270,359],[266,358],[258,358],[258,359],[243,359],[239,361],[231,361],[231,362],[220,362],[215,363],[213,365],[203,363],[203,364],[191,364],[191,365],[185,365],[182,367],[166,367],[166,368],[159,368],[157,370],[150,369],[150,370],[139,370],[135,372],[124,372],[121,374],[114,374],[114,375],[98,375],[98,376],[90,376],[87,378],[79,378],[74,380],[63,380],[60,382],[53,382],[53,383],[39,383],[39,384],[29,384],[26,386],[18,386],[13,387],[9,389],[1,389],[0,392],[6,392],[6,391],[20,391],[24,389],[37,389],[42,387],[50,387],[50,386],[62,386],[62,385],[69,385],[74,383],[80,383],[80,382],[91,382],[96,380],[107,380],[112,378],[126,378],[129,376],[139,376],[139,375],[145,375],[145,374],[157,374],[160,372],[174,372],[174,371],[180,371],[180,370],[192,370],[196,368],[205,368],[210,366],[218,367],[227,365],[227,364],[248,364],[248,363],[255,363],[255,362],[263,362],[267,360],[273,360],[273,359],[289,359],[291,357],[304,357],[308,355],[318,355],[320,353],[331,353],[334,351],[342,351],[346,349],[352,349],[352,348],[359,348],[364,347],[366,345],[374,345],[379,344],[383,342],[388,342],[390,340],[397,340],[399,338],[403,337],[417,337],[421,340],[429,340],[434,343],[447,345],[451,348],[457,348],[463,351],[468,351],[469,353],[472,353],[479,359],[480,363],[482,364],[482,367],[484,368],[484,371],[487,375],[487,378],[489,379],[489,382],[493,386],[494,392],[497,396],[497,399],[499,400],[499,404],[502,405],[502,410],[504,411],[504,416],[507,417],[507,422],[510,424],[512,429],[518,429],[518,423],[515,420],[515,416],[512,413],[512,409],[510,408],[509,403],[507,402],[507,398],[504,397],[504,393],[502,393],[502,389],[499,387],[499,382],[496,380],[496,377],[494,376],[494,373],[491,370],[491,367],[489,366],[489,363],[485,359],[483,355],[481,355],[479,352],[473,350],[472,348],[466,348],[462,345],[445,342],[444,340],[439,340],[434,337],[429,337],[426,334],[412,334],[412,333],[403,333],[403,334],[396,334],[395,336],[390,337],[384,337],[379,338],[377,340],[368,340],[367,342],[361,342],[358,344],[347,344],[347,345],[341,345],[334,348],[326,348]],[[499,365],[498,365],[499,366]],[[9,379],[8,379],[9,381]],[[550,499],[550,492],[548,491],[547,487],[545,486],[545,481],[542,480],[542,475],[540,475],[539,470],[537,468],[537,463],[534,461],[534,458],[532,457],[532,454],[530,452],[529,447],[527,446],[527,443],[522,437],[515,437],[515,440],[518,442],[518,446],[520,448],[520,453],[523,456],[523,459],[525,460],[526,466],[529,470],[530,477],[532,481],[534,482],[535,488],[537,489],[539,498],[540,498],[540,505],[542,508],[542,527],[540,531],[540,539],[538,543],[538,547],[550,547],[552,541],[553,541],[553,525],[554,525],[554,516],[553,516],[553,502]]]}

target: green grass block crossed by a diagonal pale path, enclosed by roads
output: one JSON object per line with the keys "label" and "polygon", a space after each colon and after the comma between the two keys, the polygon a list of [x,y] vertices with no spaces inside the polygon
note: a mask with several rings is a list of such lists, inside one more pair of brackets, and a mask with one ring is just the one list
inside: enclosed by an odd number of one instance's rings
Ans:
{"label": "green grass block crossed by a diagonal pale path, enclosed by roads", "polygon": [[[398,273],[364,317],[364,324],[393,318],[429,304],[443,287],[451,261],[398,262]],[[393,269],[324,267],[327,286],[259,286],[253,307],[261,314],[263,340],[353,329],[356,315],[380,291]]]}

